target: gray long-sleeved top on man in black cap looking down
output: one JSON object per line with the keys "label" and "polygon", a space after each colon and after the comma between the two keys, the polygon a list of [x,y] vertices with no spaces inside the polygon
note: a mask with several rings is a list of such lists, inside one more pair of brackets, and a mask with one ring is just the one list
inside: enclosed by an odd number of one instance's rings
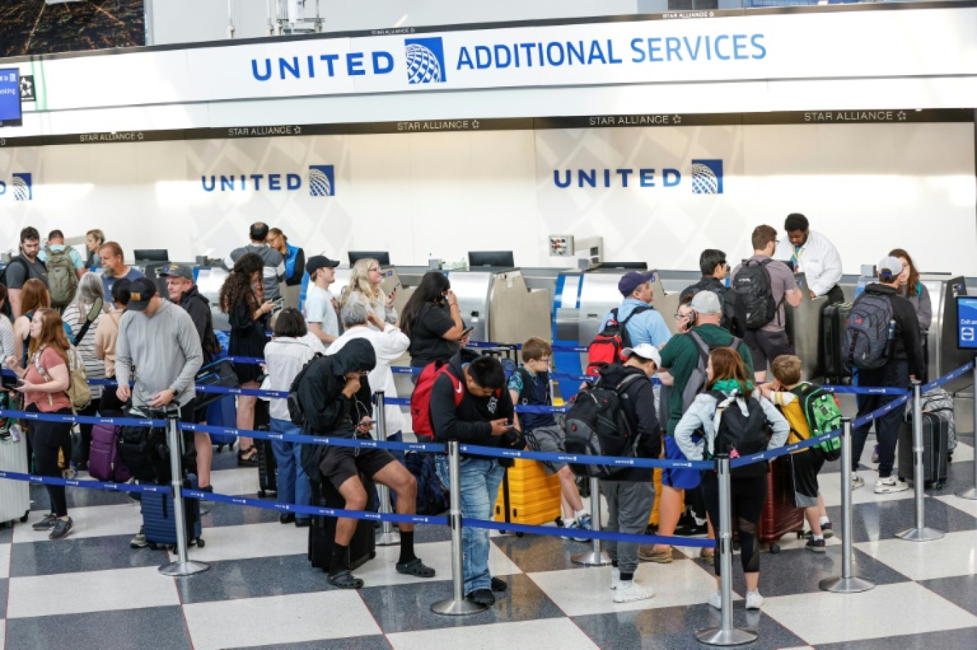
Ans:
{"label": "gray long-sleeved top on man in black cap looking down", "polygon": [[200,337],[186,311],[162,300],[151,317],[126,311],[119,320],[115,343],[115,377],[130,381],[130,366],[136,367],[132,403],[145,407],[153,395],[167,388],[177,391],[177,402],[186,406],[193,399],[193,378],[203,363]]}

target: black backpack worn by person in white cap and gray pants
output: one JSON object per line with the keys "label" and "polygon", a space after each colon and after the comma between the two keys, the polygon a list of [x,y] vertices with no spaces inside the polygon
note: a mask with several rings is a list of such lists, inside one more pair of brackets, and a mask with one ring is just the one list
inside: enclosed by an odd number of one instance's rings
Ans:
{"label": "black backpack worn by person in white cap and gray pants", "polygon": [[[641,374],[628,374],[614,388],[598,381],[583,388],[567,412],[564,431],[567,434],[568,454],[606,455],[633,458],[636,455],[637,435],[621,408],[621,393]],[[580,476],[610,478],[620,468],[614,465],[572,465]]]}

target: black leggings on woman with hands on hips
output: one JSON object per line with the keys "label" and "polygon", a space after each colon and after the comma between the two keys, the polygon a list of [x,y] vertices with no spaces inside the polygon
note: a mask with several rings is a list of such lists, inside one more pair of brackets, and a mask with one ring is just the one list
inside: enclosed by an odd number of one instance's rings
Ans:
{"label": "black leggings on woman with hands on hips", "polygon": [[[733,524],[740,535],[740,559],[743,573],[759,573],[760,553],[757,552],[756,536],[760,524],[763,503],[767,500],[767,476],[734,477],[730,481],[733,502]],[[719,477],[715,472],[702,473],[702,497],[709,512],[709,520],[719,529]],[[713,566],[719,575],[719,553],[715,554]]]}

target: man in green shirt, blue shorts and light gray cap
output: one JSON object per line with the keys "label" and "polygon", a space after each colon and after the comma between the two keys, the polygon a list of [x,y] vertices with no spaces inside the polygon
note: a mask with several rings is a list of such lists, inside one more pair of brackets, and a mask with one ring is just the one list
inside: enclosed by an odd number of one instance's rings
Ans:
{"label": "man in green shirt, blue shorts and light gray cap", "polygon": [[[691,317],[695,325],[688,332],[674,336],[661,349],[661,368],[667,369],[668,375],[671,377],[668,422],[664,427],[665,458],[669,460],[688,459],[675,443],[675,425],[682,419],[682,413],[689,406],[689,404],[684,403],[686,400],[683,399],[683,395],[689,386],[690,379],[693,379],[694,371],[697,368],[704,370],[700,342],[707,350],[735,346],[737,352],[743,357],[747,374],[752,376],[753,372],[749,346],[719,325],[723,316],[719,296],[712,291],[700,291],[693,296],[689,306],[692,308]],[[696,373],[696,376],[702,382],[702,385],[695,389],[698,393],[705,386],[702,381],[703,376],[700,373]],[[663,382],[667,380],[667,376],[662,377]],[[667,467],[661,471],[658,535],[669,537],[675,533],[675,527],[682,515],[682,492],[697,490],[699,482],[699,470]],[[704,513],[699,514],[704,518]],[[671,546],[658,544],[651,549],[643,548],[641,559],[661,564],[670,563],[672,561]]]}

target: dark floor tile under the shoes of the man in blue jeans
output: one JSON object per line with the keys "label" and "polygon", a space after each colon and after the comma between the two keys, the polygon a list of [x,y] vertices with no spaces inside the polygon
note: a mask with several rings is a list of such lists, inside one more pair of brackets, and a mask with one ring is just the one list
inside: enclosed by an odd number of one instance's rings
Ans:
{"label": "dark floor tile under the shoes of the man in blue jeans", "polygon": [[385,633],[418,629],[484,626],[493,623],[535,621],[563,616],[563,612],[528,577],[505,576],[509,588],[496,593],[495,604],[481,614],[451,617],[431,611],[431,605],[451,597],[450,581],[375,586],[360,595]]}

